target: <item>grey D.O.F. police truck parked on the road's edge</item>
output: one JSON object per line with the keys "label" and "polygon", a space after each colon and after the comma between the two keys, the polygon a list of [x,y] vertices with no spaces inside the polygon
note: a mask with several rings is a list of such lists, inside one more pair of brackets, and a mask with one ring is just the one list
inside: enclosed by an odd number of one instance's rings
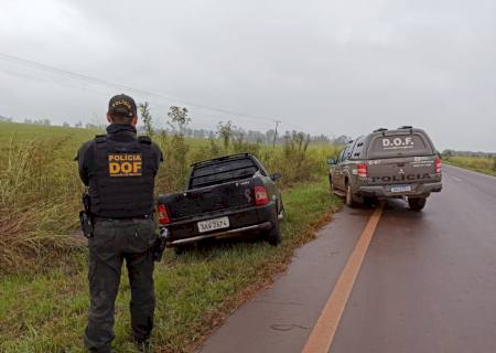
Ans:
{"label": "grey D.O.F. police truck parked on the road's edge", "polygon": [[346,197],[351,207],[398,197],[420,211],[431,192],[442,189],[441,160],[431,139],[409,126],[362,136],[327,163],[331,191]]}

